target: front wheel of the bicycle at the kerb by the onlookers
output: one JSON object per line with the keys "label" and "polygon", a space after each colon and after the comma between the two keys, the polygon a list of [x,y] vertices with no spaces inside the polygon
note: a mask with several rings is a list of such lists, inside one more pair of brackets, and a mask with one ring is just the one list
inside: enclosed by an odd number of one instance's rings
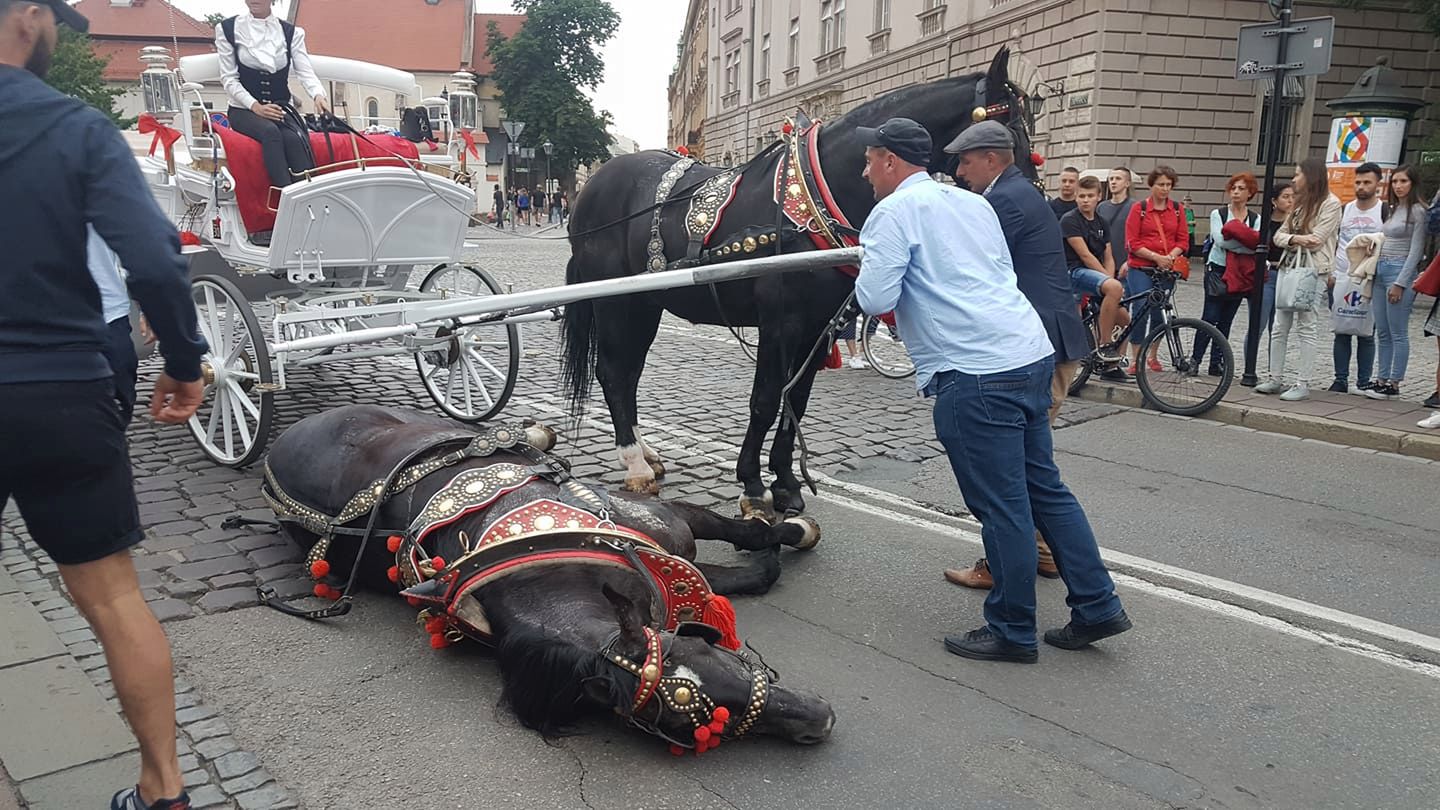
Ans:
{"label": "front wheel of the bicycle at the kerb by the onlookers", "polygon": [[[1208,360],[1195,359],[1197,339],[1205,336],[1205,353],[1218,350],[1220,376],[1208,373]],[[1155,330],[1142,347],[1142,357],[1158,346],[1161,370],[1149,363],[1136,369],[1136,382],[1145,399],[1166,414],[1195,417],[1220,402],[1236,378],[1236,355],[1230,340],[1214,326],[1195,319],[1175,319]]]}

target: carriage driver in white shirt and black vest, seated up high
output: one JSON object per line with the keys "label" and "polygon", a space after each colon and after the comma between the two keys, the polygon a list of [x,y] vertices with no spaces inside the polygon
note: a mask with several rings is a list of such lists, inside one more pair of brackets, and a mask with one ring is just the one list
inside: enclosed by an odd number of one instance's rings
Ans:
{"label": "carriage driver in white shirt and black vest, seated up high", "polygon": [[220,84],[230,97],[230,128],[261,143],[271,184],[284,189],[291,172],[315,167],[304,120],[291,104],[291,69],[314,98],[315,112],[328,112],[330,104],[305,50],[305,29],[276,17],[272,3],[245,0],[245,14],[215,26],[215,50]]}

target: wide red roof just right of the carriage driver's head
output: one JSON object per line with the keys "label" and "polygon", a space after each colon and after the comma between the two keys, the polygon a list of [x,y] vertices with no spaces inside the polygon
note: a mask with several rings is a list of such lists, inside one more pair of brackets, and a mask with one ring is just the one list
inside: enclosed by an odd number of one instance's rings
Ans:
{"label": "wide red roof just right of the carriage driver's head", "polygon": [[410,72],[461,69],[469,0],[295,0],[311,53]]}

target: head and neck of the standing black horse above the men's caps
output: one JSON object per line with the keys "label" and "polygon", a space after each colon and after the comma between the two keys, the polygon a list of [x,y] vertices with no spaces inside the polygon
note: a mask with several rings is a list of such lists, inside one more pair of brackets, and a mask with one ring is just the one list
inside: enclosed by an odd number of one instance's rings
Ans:
{"label": "head and neck of the standing black horse above the men's caps", "polygon": [[825,124],[821,164],[835,200],[857,228],[874,208],[870,184],[861,179],[865,156],[855,127],[878,127],[888,118],[910,118],[930,133],[926,172],[955,176],[958,157],[945,147],[966,127],[994,120],[1015,135],[1015,166],[1031,182],[1040,173],[1031,156],[1027,97],[1009,81],[1009,49],[1001,48],[985,72],[910,85],[868,101]]}

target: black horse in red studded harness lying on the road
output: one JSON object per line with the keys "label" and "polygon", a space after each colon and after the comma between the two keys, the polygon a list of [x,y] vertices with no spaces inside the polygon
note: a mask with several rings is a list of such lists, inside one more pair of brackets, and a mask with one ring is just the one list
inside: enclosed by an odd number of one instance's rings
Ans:
{"label": "black horse in red studded harness lying on the road", "polygon": [[[829,703],[776,683],[740,646],[723,597],[769,589],[779,548],[812,548],[818,525],[596,490],[546,453],[553,444],[541,425],[474,431],[351,405],[287,430],[264,491],[310,549],[317,595],[337,598],[334,582],[353,574],[422,608],[433,647],[494,646],[503,699],[533,729],[556,734],[602,709],[677,754],[747,732],[824,741]],[[697,539],[750,559],[694,564]]]}

